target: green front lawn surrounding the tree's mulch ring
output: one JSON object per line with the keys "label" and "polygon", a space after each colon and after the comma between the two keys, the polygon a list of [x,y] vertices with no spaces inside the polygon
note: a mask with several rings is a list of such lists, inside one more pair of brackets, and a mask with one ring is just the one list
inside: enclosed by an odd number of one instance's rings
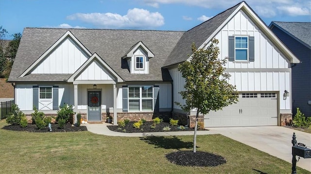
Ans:
{"label": "green front lawn surrounding the tree's mulch ring", "polygon": [[[0,121],[0,127],[5,120]],[[290,174],[291,163],[222,135],[198,135],[198,151],[226,158],[217,167],[183,167],[165,155],[192,150],[193,136],[109,137],[85,132],[30,133],[0,129],[0,173]],[[258,172],[260,171],[260,172]],[[298,174],[311,174],[297,167]]]}

